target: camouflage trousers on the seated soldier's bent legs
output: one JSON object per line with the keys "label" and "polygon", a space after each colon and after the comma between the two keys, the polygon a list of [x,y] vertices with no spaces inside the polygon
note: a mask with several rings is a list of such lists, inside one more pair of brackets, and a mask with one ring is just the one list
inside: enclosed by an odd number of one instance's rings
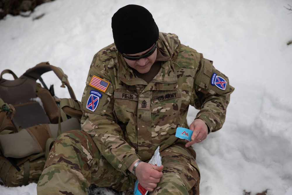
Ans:
{"label": "camouflage trousers on the seated soldier's bent legs", "polygon": [[[163,176],[154,194],[199,195],[199,172],[195,153],[182,145],[161,151]],[[103,158],[91,137],[71,130],[55,141],[37,184],[37,194],[87,194],[90,184],[117,191],[134,189],[133,174],[124,175]]]}

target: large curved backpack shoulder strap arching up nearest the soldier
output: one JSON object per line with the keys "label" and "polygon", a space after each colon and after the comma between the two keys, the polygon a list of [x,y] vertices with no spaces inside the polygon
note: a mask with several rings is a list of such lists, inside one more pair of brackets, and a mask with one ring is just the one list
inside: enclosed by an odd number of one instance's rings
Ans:
{"label": "large curved backpack shoulder strap arching up nearest the soldier", "polygon": [[65,87],[66,85],[71,98],[76,99],[74,91],[69,84],[68,76],[64,74],[61,68],[50,65],[48,62],[42,62],[42,63],[37,64],[35,67],[28,69],[23,75],[27,77],[31,77],[35,80],[38,80],[42,74],[51,70],[53,70],[53,72],[62,81],[61,87]]}

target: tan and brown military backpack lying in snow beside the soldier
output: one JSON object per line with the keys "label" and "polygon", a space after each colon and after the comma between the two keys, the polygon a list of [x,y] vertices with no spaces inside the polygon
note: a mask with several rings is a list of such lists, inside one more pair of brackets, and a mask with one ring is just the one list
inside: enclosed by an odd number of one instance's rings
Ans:
{"label": "tan and brown military backpack lying in snow beside the soldier", "polygon": [[[57,98],[41,75],[53,71],[71,98]],[[9,73],[14,80],[2,76]],[[36,80],[41,82],[38,83]],[[58,135],[81,130],[82,111],[67,75],[42,62],[19,78],[11,70],[0,76],[0,178],[8,187],[38,182],[46,157]],[[1,182],[1,181],[0,181]]]}

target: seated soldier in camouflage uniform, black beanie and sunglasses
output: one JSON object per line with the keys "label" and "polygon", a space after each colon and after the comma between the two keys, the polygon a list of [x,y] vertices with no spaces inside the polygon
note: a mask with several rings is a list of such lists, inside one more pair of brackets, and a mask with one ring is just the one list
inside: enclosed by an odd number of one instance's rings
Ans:
{"label": "seated soldier in camouflage uniform, black beanie and sunglasses", "polygon": [[[212,61],[159,32],[144,7],[120,8],[112,32],[90,66],[82,131],[56,139],[38,194],[87,194],[90,184],[125,191],[137,179],[149,194],[199,194],[190,146],[222,127],[234,88]],[[190,105],[200,111],[188,126]],[[175,137],[177,127],[192,130],[191,141]],[[158,146],[159,167],[147,163]]]}

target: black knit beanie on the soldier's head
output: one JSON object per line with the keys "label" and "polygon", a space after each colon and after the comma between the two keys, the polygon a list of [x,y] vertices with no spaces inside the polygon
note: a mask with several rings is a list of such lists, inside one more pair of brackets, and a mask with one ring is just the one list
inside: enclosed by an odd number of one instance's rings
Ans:
{"label": "black knit beanie on the soldier's head", "polygon": [[144,7],[127,5],[112,17],[114,43],[123,54],[137,54],[149,49],[159,36],[152,14]]}

